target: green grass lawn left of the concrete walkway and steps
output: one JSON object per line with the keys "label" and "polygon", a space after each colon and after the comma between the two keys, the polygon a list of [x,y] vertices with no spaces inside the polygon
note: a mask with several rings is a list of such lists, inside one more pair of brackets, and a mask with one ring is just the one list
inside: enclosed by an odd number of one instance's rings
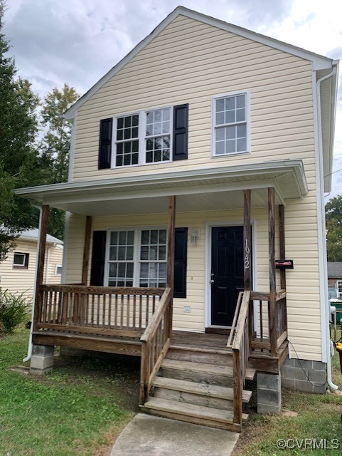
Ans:
{"label": "green grass lawn left of the concrete walkway and steps", "polygon": [[100,456],[137,410],[139,360],[57,356],[43,377],[10,368],[28,330],[0,338],[0,456]]}

